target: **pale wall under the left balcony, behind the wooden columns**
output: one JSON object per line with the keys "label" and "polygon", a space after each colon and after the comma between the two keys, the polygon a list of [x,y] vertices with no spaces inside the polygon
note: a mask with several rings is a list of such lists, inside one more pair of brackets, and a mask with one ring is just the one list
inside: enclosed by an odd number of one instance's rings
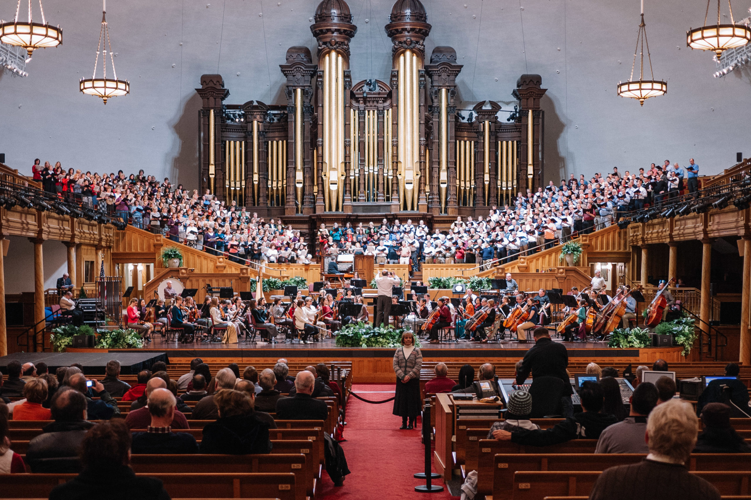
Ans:
{"label": "pale wall under the left balcony, behind the wooden columns", "polygon": [[[8,255],[3,259],[5,293],[34,292],[34,244],[29,238],[8,236]],[[57,279],[68,272],[68,249],[61,241],[42,244],[44,289],[55,288]]]}

